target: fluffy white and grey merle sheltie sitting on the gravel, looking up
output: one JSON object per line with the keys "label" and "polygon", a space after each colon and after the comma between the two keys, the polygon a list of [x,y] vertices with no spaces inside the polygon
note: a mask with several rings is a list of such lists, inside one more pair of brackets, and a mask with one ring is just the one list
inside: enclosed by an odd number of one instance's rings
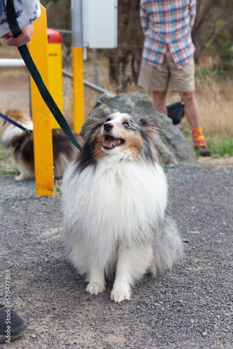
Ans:
{"label": "fluffy white and grey merle sheltie sitting on the gravel, looking up", "polygon": [[146,271],[170,269],[183,253],[166,215],[167,181],[158,164],[156,126],[129,114],[100,111],[63,176],[63,239],[68,258],[87,276],[87,291],[130,299]]}

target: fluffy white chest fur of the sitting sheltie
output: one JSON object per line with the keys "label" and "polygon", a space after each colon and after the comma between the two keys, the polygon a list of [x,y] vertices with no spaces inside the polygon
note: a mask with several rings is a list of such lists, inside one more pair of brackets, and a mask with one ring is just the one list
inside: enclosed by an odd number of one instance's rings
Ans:
{"label": "fluffy white chest fur of the sitting sheltie", "polygon": [[63,178],[64,223],[70,235],[82,236],[95,248],[100,242],[150,239],[167,205],[167,183],[159,165],[114,163],[106,156],[95,170],[88,167],[75,175],[75,167],[72,163]]}

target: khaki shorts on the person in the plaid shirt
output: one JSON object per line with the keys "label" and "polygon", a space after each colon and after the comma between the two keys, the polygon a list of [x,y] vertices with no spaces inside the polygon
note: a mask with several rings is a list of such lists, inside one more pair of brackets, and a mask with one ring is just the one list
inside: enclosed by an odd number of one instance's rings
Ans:
{"label": "khaki shorts on the person in the plaid shirt", "polygon": [[171,78],[172,91],[195,91],[195,64],[193,57],[181,69],[176,67],[169,50],[165,54],[162,70],[156,69],[142,59],[138,86],[151,91],[167,91]]}

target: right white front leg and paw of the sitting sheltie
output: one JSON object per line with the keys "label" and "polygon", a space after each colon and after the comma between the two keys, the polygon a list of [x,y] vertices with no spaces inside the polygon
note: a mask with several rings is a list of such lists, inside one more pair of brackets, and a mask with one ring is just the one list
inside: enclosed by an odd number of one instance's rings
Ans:
{"label": "right white front leg and paw of the sitting sheltie", "polygon": [[117,273],[111,292],[111,299],[121,302],[130,299],[130,285],[140,279],[151,265],[153,252],[151,244],[137,244],[119,247]]}

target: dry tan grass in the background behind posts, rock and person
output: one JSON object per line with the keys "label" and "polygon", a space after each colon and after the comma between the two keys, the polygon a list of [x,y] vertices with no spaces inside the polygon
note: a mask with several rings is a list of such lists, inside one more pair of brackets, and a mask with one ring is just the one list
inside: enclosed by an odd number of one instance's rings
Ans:
{"label": "dry tan grass in the background behind posts, rock and person", "polygon": [[[6,43],[0,46],[0,57],[2,58],[19,58],[19,53],[15,47],[6,47]],[[70,61],[70,59],[68,59]],[[70,66],[65,67],[66,70],[71,70]],[[99,84],[104,89],[112,91],[113,93],[119,93],[121,87],[115,87],[110,84],[108,77],[108,59],[107,57],[100,57],[98,59],[99,69]],[[128,73],[130,73],[128,71]],[[95,70],[93,66],[93,52],[89,52],[87,61],[84,61],[84,78],[90,82],[95,82]],[[15,84],[20,84],[20,81],[27,80],[28,74],[24,68],[0,68],[0,80],[6,82],[14,80]],[[196,78],[196,96],[200,107],[200,115],[202,121],[202,128],[207,138],[211,138],[218,133],[223,133],[230,137],[233,137],[233,123],[232,123],[232,110],[233,110],[233,98],[232,98],[233,80],[222,79],[216,81],[216,77],[211,75],[197,76]],[[135,84],[131,84],[126,93],[142,91],[151,96],[151,92],[143,91],[139,89]],[[1,94],[1,91],[0,91]],[[10,91],[9,91],[10,95]],[[84,113],[85,119],[91,111],[93,105],[96,102],[96,98],[99,94],[88,87],[84,87]],[[168,92],[167,105],[179,101],[179,94],[173,94],[172,91]],[[1,101],[0,111],[5,112],[7,109],[12,108],[12,101]],[[29,106],[23,107],[27,112]],[[72,80],[68,77],[63,78],[63,112],[68,120],[70,126],[73,120],[73,87]],[[183,126],[188,126],[186,119],[182,120]],[[1,125],[1,123],[0,123]],[[1,126],[0,126],[1,128]],[[1,131],[1,130],[0,130]]]}

